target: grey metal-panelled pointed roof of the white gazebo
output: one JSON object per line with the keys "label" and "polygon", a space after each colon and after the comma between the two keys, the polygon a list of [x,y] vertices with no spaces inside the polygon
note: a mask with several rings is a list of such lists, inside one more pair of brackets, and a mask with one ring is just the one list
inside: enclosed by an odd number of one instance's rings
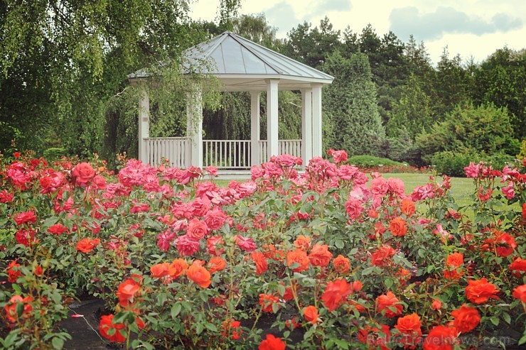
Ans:
{"label": "grey metal-panelled pointed roof of the white gazebo", "polygon": [[[264,91],[268,79],[279,79],[280,90],[311,87],[312,83],[331,84],[333,77],[292,60],[231,32],[222,33],[183,52],[183,69],[213,74],[226,91]],[[131,80],[147,77],[139,70]]]}

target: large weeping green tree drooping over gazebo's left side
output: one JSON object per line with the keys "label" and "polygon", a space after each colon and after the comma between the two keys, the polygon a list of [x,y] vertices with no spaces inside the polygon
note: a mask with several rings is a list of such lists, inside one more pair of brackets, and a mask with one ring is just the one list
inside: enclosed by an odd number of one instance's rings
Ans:
{"label": "large weeping green tree drooping over gazebo's left side", "polygon": [[[221,1],[220,23],[239,3]],[[0,121],[21,132],[21,148],[100,151],[109,100],[123,96],[127,75],[177,65],[205,38],[188,11],[186,0],[2,1]]]}

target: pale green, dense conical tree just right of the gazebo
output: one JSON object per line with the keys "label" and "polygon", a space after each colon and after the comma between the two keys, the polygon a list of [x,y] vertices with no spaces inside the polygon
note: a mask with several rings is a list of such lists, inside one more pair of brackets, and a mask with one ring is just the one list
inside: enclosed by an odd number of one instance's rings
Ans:
{"label": "pale green, dense conical tree just right of the gazebo", "polygon": [[336,51],[323,68],[335,77],[323,92],[326,114],[336,126],[331,147],[345,149],[349,155],[377,155],[385,130],[367,56],[356,53],[343,58]]}

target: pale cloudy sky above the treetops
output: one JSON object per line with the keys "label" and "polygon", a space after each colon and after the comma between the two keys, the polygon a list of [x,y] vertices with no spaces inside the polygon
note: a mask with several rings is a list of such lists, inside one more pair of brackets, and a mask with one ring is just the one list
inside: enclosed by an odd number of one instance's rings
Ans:
{"label": "pale cloudy sky above the treetops", "polygon": [[[190,16],[213,21],[219,4],[195,0]],[[326,16],[340,31],[349,26],[360,34],[371,24],[380,38],[392,31],[404,43],[412,34],[434,65],[444,49],[449,58],[482,62],[505,46],[526,48],[525,0],[241,0],[239,13],[264,13],[278,38],[305,21],[319,26]]]}

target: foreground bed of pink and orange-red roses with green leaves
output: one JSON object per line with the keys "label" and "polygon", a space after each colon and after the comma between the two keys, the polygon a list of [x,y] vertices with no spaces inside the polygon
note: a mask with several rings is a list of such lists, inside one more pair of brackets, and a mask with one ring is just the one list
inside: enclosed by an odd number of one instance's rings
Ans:
{"label": "foreground bed of pink and orange-red roses with green leaves", "polygon": [[466,167],[477,188],[468,220],[448,177],[406,196],[401,180],[333,158],[299,175],[301,159],[281,155],[228,187],[215,168],[136,160],[117,175],[98,160],[5,165],[2,345],[62,347],[58,323],[82,293],[105,301],[100,334],[126,348],[526,341],[524,167]]}

